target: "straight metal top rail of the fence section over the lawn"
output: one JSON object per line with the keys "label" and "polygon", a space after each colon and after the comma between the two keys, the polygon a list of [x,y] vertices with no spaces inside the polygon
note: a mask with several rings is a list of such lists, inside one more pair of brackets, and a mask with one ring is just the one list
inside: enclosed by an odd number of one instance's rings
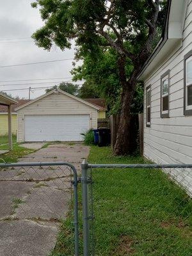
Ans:
{"label": "straight metal top rail of the fence section over the lawn", "polygon": [[88,168],[192,168],[192,164],[88,164]]}

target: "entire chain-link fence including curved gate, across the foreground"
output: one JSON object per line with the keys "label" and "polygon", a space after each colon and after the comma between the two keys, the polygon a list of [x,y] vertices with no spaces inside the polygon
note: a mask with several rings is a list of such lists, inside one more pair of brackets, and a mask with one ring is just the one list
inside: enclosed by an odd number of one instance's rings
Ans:
{"label": "entire chain-link fence including curved gate, across the foreground", "polygon": [[[191,256],[191,168],[84,161],[83,255]],[[77,184],[69,163],[0,164],[2,255],[81,255]]]}

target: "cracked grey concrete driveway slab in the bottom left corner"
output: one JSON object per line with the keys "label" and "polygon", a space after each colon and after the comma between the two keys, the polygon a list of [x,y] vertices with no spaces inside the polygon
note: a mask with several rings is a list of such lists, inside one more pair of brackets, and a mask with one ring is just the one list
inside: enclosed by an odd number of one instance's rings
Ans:
{"label": "cracked grey concrete driveway slab in the bottom left corner", "polygon": [[31,220],[0,222],[0,256],[45,256],[56,243],[58,225]]}

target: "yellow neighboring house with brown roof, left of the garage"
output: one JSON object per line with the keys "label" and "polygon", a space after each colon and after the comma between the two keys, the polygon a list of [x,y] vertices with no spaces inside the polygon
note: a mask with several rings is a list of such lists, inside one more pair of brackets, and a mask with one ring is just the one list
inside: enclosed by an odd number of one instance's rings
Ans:
{"label": "yellow neighboring house with brown roof, left of the garage", "polygon": [[[12,105],[12,133],[17,134],[17,112],[15,108],[25,104],[29,100],[17,100],[17,104]],[[8,106],[0,105],[0,136],[8,134]]]}

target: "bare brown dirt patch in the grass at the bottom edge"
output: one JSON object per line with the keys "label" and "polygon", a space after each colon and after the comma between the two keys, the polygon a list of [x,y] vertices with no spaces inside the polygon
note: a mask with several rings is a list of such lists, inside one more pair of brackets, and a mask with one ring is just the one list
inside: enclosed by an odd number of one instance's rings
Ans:
{"label": "bare brown dirt patch in the grass at the bottom edge", "polygon": [[134,253],[132,248],[133,243],[134,242],[129,236],[120,237],[120,244],[117,246],[115,252],[113,252],[113,255],[132,255],[132,253]]}

